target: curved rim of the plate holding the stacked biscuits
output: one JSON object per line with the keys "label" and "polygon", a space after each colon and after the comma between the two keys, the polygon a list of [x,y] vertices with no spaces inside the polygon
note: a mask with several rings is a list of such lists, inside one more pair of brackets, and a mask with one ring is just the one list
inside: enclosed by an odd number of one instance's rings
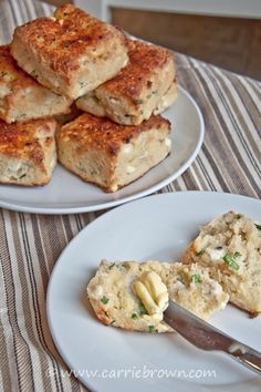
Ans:
{"label": "curved rim of the plate holding the stacked biscuits", "polygon": [[203,116],[202,116],[202,113],[201,113],[201,110],[200,110],[198,103],[196,102],[196,100],[190,95],[190,93],[186,89],[178,85],[178,90],[180,90],[186,95],[186,97],[190,101],[190,103],[192,103],[192,105],[196,110],[196,113],[199,118],[199,137],[198,137],[197,144],[196,144],[196,147],[194,149],[194,153],[186,161],[186,163],[179,167],[179,169],[175,174],[169,175],[165,179],[163,179],[161,182],[155,184],[154,186],[148,187],[144,190],[137,192],[133,195],[125,196],[123,198],[118,198],[118,199],[111,200],[111,202],[100,203],[100,204],[92,204],[92,205],[76,206],[76,207],[61,207],[60,208],[60,207],[44,207],[44,206],[43,207],[24,206],[19,203],[13,204],[13,203],[3,202],[0,199],[0,207],[7,208],[10,210],[14,210],[14,212],[20,212],[20,213],[45,214],[45,215],[70,215],[70,214],[80,214],[80,213],[93,213],[93,212],[98,212],[102,209],[107,209],[107,208],[112,208],[115,206],[119,206],[124,203],[128,203],[128,202],[142,198],[144,196],[152,195],[153,193],[167,186],[168,184],[170,184],[173,180],[178,178],[182,173],[185,173],[190,167],[190,165],[194,163],[194,161],[198,156],[198,153],[202,146],[203,137],[205,137],[205,121],[203,121]]}

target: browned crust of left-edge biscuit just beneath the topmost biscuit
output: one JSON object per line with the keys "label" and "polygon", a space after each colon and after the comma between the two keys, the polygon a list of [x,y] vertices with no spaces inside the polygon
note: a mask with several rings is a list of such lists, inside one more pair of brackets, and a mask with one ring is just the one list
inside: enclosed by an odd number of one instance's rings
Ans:
{"label": "browned crust of left-edge biscuit just beneath the topmost biscuit", "polygon": [[11,55],[10,45],[0,47],[0,85],[7,86],[10,94],[31,86],[45,90],[17,64]]}

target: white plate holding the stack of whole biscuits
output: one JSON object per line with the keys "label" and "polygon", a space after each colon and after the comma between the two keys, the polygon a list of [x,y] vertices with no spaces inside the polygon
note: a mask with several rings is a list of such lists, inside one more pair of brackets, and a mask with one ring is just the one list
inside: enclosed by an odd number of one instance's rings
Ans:
{"label": "white plate holding the stack of whole biscuits", "polygon": [[58,165],[44,187],[0,186],[0,207],[39,214],[93,212],[152,194],[180,176],[196,158],[203,140],[203,120],[198,105],[181,87],[177,102],[164,113],[173,123],[173,152],[137,182],[105,194]]}

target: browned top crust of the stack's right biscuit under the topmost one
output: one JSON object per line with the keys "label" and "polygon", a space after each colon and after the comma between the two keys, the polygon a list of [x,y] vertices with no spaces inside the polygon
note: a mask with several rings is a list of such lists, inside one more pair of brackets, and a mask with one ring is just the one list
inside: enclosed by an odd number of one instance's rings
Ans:
{"label": "browned top crust of the stack's right biscuit under the topmost one", "polygon": [[115,78],[103,83],[101,89],[115,95],[128,96],[133,101],[136,99],[136,103],[139,104],[138,99],[143,89],[153,89],[149,78],[158,74],[165,64],[174,61],[174,54],[167,49],[140,41],[128,40],[127,48],[128,64]]}

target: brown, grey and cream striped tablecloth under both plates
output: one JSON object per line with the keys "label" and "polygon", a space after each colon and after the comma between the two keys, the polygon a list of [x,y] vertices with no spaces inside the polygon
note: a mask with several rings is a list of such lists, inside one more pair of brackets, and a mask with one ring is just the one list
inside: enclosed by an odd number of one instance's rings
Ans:
{"label": "brown, grey and cream striped tablecloth under both plates", "polygon": [[[29,19],[51,14],[32,0],[0,0],[0,41]],[[219,190],[261,195],[261,84],[182,54],[178,82],[205,118],[202,148],[191,167],[160,192]],[[0,210],[0,390],[84,390],[69,376],[48,328],[45,293],[65,245],[97,215],[41,216]]]}

